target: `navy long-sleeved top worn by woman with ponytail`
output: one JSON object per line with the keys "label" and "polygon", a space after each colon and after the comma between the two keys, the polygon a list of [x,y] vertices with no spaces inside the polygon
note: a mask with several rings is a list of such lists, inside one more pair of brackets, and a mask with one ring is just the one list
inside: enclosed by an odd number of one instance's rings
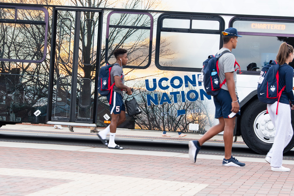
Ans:
{"label": "navy long-sleeved top worn by woman with ponytail", "polygon": [[282,92],[280,103],[289,104],[289,100],[294,104],[293,94],[293,68],[284,63],[279,68],[279,91],[286,85],[285,90]]}

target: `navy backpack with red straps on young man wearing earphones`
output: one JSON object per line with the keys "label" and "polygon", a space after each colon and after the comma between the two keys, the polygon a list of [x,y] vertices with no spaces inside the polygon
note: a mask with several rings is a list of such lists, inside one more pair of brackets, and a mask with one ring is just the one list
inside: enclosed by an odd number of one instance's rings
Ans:
{"label": "navy backpack with red straps on young man wearing earphones", "polygon": [[109,92],[111,93],[109,104],[111,104],[113,86],[115,85],[115,82],[111,85],[111,79],[110,79],[110,71],[112,66],[113,65],[106,64],[106,66],[101,67],[99,71],[99,76],[98,76],[99,94],[103,97],[106,97],[109,94]]}

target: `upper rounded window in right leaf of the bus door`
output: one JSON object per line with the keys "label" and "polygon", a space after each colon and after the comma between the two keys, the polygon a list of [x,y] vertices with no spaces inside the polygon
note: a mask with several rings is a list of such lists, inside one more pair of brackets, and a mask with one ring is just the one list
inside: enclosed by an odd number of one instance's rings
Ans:
{"label": "upper rounded window in right leaf of the bus door", "polygon": [[[94,36],[95,36],[95,21],[93,19],[86,19],[83,25],[83,42],[82,42],[82,63],[84,65],[92,65],[96,60],[96,50],[94,51]],[[91,37],[91,38],[89,38]],[[90,43],[85,42],[89,41]],[[92,45],[90,47],[91,51],[86,51],[86,46],[88,44]],[[88,47],[89,48],[89,47]],[[97,49],[97,46],[96,46]],[[94,54],[95,52],[95,54]]]}

